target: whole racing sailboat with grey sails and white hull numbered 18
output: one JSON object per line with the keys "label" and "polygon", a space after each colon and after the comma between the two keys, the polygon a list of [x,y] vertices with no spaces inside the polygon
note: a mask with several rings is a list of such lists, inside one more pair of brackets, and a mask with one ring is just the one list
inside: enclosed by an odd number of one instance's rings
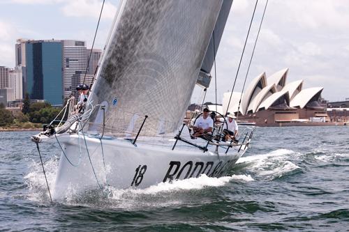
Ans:
{"label": "whole racing sailboat with grey sails and white hull numbered 18", "polygon": [[198,77],[211,70],[212,41],[220,40],[231,5],[121,1],[84,114],[33,137],[62,150],[53,199],[229,173],[253,129],[241,131],[238,144],[214,139],[218,127],[210,139],[191,139],[183,118]]}

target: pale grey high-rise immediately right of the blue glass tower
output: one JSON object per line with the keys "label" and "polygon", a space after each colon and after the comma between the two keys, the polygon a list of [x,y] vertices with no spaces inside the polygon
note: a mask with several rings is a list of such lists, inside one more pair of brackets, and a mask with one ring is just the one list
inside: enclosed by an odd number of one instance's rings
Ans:
{"label": "pale grey high-rise immediately right of the blue glass tower", "polygon": [[73,75],[77,72],[86,72],[86,42],[80,40],[62,40],[62,42],[64,98],[68,98],[70,93],[75,90],[71,83]]}

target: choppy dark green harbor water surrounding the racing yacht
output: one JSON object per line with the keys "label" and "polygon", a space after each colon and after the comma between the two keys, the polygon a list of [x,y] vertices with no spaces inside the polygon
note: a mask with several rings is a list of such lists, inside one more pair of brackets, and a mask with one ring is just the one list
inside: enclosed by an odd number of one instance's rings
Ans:
{"label": "choppy dark green harbor water surrounding the racing yacht", "polygon": [[[36,132],[0,132],[0,231],[348,231],[349,126],[258,127],[222,178],[50,203]],[[56,145],[40,144],[50,186]]]}

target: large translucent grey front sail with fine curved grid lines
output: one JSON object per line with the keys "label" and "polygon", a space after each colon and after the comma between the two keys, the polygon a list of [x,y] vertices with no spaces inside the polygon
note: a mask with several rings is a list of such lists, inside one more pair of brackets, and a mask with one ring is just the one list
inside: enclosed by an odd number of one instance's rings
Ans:
{"label": "large translucent grey front sail with fine curved grid lines", "polygon": [[128,0],[89,96],[89,130],[174,132],[182,122],[223,0]]}

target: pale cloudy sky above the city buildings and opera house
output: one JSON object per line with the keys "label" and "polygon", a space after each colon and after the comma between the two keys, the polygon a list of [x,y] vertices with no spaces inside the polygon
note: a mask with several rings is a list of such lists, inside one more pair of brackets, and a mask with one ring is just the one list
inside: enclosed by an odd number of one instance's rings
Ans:
{"label": "pale cloudy sky above the city buildings and opera house", "polygon": [[[18,38],[85,40],[91,47],[102,0],[0,0],[0,65],[15,65]],[[237,75],[254,0],[234,0],[216,55],[216,78],[207,101],[221,103],[223,93],[241,91],[266,0],[259,0],[244,59]],[[102,49],[119,0],[106,0],[94,47]],[[303,88],[324,87],[329,101],[349,98],[349,1],[269,0],[247,83],[289,68],[287,82],[303,79]],[[215,76],[214,69],[211,74]],[[246,89],[246,87],[245,87]],[[201,103],[195,87],[191,101]]]}

